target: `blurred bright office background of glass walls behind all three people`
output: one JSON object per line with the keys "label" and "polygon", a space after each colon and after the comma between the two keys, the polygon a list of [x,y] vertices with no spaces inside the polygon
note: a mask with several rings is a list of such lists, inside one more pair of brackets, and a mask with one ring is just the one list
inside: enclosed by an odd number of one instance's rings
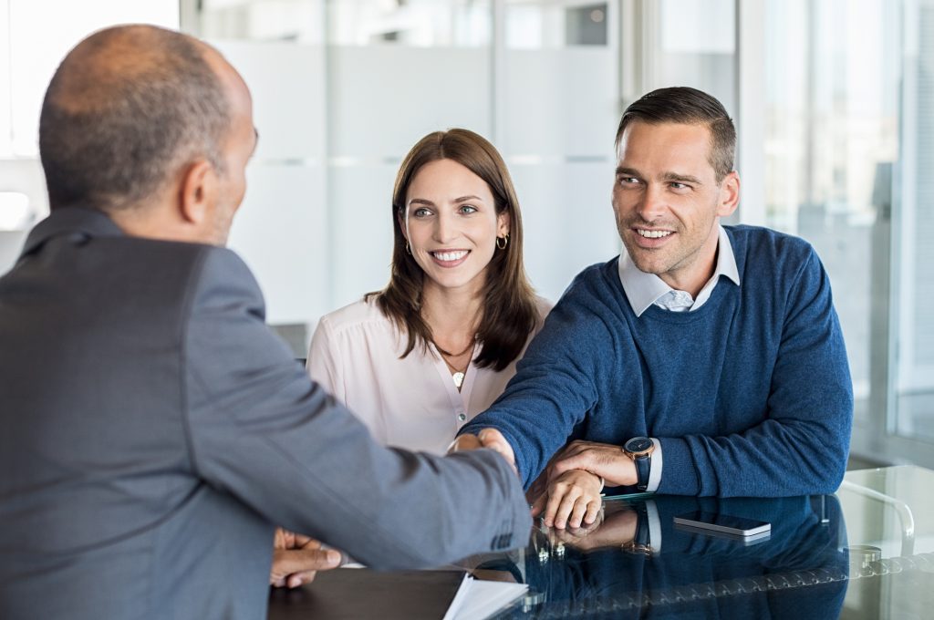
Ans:
{"label": "blurred bright office background of glass walls behind all three people", "polygon": [[739,132],[731,220],[798,234],[827,266],[854,454],[934,467],[934,0],[0,0],[0,273],[48,213],[51,74],[126,21],[202,36],[246,77],[262,138],[231,246],[296,357],[318,317],[386,284],[392,181],[423,134],[501,150],[554,301],[620,250],[625,106],[711,92]]}

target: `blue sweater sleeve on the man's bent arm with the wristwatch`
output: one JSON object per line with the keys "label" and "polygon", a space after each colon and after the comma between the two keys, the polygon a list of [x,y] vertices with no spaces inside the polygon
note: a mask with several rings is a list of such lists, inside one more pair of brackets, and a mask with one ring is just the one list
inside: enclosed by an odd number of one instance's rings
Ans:
{"label": "blue sweater sleeve on the man's bent arm with the wristwatch", "polygon": [[810,249],[785,303],[765,418],[728,436],[659,437],[665,469],[658,492],[832,493],[846,469],[852,385],[828,275]]}

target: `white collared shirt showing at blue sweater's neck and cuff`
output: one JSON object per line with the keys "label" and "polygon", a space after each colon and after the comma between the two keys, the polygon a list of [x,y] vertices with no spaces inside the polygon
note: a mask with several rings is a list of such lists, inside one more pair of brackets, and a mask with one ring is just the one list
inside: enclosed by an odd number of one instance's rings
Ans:
{"label": "white collared shirt showing at blue sweater's neck and cuff", "polygon": [[[642,317],[643,313],[653,303],[659,308],[671,312],[692,312],[697,310],[710,299],[721,275],[729,277],[730,280],[736,283],[736,286],[740,286],[740,271],[736,268],[733,247],[729,243],[729,235],[723,226],[719,227],[717,236],[714,275],[707,280],[707,284],[698,293],[697,299],[692,299],[690,293],[685,290],[672,289],[658,275],[646,274],[644,271],[640,271],[632,262],[629,252],[623,250],[619,255],[619,282],[623,285],[626,298],[630,302],[632,311],[636,313],[636,317]],[[661,443],[655,437],[651,439],[652,443],[655,444],[655,451],[652,452],[652,467],[649,469],[648,485],[645,490],[654,492],[661,483],[661,470],[664,461],[661,457]]]}

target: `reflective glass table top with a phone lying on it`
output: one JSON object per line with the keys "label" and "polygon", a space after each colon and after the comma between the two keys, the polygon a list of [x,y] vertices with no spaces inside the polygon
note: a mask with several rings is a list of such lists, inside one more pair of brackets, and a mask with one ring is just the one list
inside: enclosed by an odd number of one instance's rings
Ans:
{"label": "reflective glass table top with a phone lying on it", "polygon": [[[766,521],[771,532],[747,539],[674,523],[697,511]],[[536,528],[525,549],[470,564],[530,586],[498,618],[931,618],[934,472],[848,472],[828,496],[608,498],[596,528]]]}

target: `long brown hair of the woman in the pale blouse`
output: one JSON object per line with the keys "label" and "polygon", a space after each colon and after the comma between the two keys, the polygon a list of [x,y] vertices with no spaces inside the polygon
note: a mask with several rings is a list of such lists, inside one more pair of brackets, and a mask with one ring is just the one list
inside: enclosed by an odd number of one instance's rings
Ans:
{"label": "long brown hair of the woman in the pale blouse", "polygon": [[389,285],[367,293],[365,299],[375,299],[383,314],[408,335],[402,358],[416,345],[428,350],[428,343],[433,340],[432,329],[420,312],[425,274],[405,249],[402,221],[405,196],[412,179],[422,166],[438,160],[458,162],[486,181],[493,194],[497,216],[506,213],[509,217],[509,242],[505,249],[494,251],[487,266],[483,316],[476,332],[477,340],[483,345],[476,365],[502,371],[522,352],[535,328],[538,311],[522,262],[522,217],[516,189],[500,153],[481,135],[466,129],[434,132],[419,140],[405,156],[392,190],[394,239]]}

